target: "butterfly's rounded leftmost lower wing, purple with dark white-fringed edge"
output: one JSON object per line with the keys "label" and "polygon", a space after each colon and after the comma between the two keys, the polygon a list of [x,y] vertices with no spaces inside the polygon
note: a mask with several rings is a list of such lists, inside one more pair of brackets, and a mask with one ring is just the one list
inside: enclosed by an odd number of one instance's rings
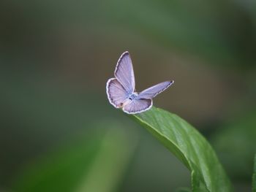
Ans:
{"label": "butterfly's rounded leftmost lower wing, purple with dark white-fringed edge", "polygon": [[111,78],[107,82],[107,95],[110,104],[116,108],[123,106],[124,102],[128,99],[128,93],[124,90],[124,87],[121,85],[116,78]]}

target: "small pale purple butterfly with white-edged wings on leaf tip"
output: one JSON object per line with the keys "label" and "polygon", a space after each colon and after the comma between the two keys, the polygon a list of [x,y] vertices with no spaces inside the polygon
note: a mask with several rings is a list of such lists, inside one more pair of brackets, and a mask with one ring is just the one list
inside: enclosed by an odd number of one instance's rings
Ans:
{"label": "small pale purple butterfly with white-edged wings on leaf tip", "polygon": [[114,107],[121,108],[128,114],[149,110],[153,105],[152,99],[174,82],[160,82],[140,93],[136,92],[132,59],[128,51],[121,54],[118,59],[114,75],[115,78],[110,78],[106,86],[108,100]]}

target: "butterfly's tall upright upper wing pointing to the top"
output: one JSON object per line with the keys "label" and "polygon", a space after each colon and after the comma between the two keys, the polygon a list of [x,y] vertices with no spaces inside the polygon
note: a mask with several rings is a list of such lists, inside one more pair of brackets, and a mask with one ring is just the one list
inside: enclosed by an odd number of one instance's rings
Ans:
{"label": "butterfly's tall upright upper wing pointing to the top", "polygon": [[132,67],[132,59],[128,51],[124,52],[117,61],[115,77],[123,85],[127,93],[135,91],[135,75]]}

